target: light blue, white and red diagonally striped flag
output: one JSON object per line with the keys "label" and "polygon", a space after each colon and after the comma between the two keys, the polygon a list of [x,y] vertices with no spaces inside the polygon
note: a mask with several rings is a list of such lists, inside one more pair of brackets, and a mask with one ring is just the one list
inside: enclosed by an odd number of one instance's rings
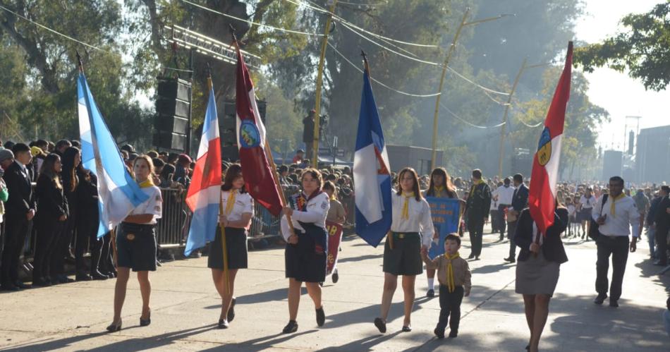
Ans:
{"label": "light blue, white and red diagonally striped flag", "polygon": [[193,212],[184,251],[186,256],[193,250],[204,247],[207,242],[214,241],[219,219],[219,202],[221,202],[221,139],[217,101],[214,97],[214,88],[210,88],[193,178],[186,193],[186,205]]}

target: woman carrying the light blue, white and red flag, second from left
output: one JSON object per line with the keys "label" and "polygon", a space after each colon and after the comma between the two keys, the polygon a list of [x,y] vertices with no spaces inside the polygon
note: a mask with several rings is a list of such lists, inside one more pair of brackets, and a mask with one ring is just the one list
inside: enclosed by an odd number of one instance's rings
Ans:
{"label": "woman carrying the light blue, white and red flag, second from left", "polygon": [[[212,269],[214,286],[221,296],[221,316],[219,329],[227,329],[235,318],[235,298],[233,288],[238,269],[247,268],[247,230],[254,215],[254,201],[247,193],[242,178],[242,166],[232,164],[226,171],[221,186],[221,204],[223,214],[219,215],[219,224],[224,225],[226,233],[226,255],[223,256],[221,229],[217,228],[217,237],[209,247],[207,267]],[[228,264],[228,282],[224,278],[224,257]]]}

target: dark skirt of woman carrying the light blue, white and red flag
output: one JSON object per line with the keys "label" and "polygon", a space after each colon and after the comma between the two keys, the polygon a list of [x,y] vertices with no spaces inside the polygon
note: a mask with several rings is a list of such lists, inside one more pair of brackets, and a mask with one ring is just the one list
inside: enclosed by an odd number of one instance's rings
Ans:
{"label": "dark skirt of woman carrying the light blue, white and red flag", "polygon": [[[247,255],[247,231],[226,227],[226,259],[228,269],[246,269],[248,267]],[[211,269],[224,269],[224,248],[221,245],[221,228],[217,226],[217,236],[214,242],[209,243],[209,257],[207,267]]]}

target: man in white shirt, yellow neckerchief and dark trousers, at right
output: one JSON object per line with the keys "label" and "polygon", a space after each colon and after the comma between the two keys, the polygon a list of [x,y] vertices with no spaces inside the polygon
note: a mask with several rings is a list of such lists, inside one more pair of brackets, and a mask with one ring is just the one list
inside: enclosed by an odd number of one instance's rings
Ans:
{"label": "man in white shirt, yellow neckerchief and dark trousers, at right", "polygon": [[[603,195],[604,196],[604,195]],[[598,260],[596,263],[597,277],[595,280],[598,296],[594,303],[602,304],[607,298],[607,271],[609,256],[612,257],[612,281],[609,286],[609,306],[619,307],[623,273],[626,271],[628,250],[635,252],[636,244],[642,231],[640,212],[635,207],[635,200],[623,194],[623,178],[614,176],[609,179],[609,196],[604,204],[602,200],[595,203],[592,218],[598,223],[599,236],[596,240]],[[633,227],[633,241],[628,240]]]}

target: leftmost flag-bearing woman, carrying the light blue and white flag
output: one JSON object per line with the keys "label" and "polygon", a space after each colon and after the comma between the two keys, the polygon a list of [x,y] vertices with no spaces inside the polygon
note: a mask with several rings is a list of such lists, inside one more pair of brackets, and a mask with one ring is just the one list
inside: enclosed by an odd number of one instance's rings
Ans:
{"label": "leftmost flag-bearing woman, carrying the light blue and white flag", "polygon": [[126,286],[130,269],[138,273],[142,294],[140,327],[151,324],[151,282],[149,272],[156,271],[156,220],[162,214],[161,190],[154,186],[151,175],[154,164],[150,157],[140,155],[133,162],[135,181],[149,198],[135,207],[116,228],[116,267],[118,276],[114,288],[114,320],[107,327],[109,332],[121,330],[121,309],[126,299]]}

